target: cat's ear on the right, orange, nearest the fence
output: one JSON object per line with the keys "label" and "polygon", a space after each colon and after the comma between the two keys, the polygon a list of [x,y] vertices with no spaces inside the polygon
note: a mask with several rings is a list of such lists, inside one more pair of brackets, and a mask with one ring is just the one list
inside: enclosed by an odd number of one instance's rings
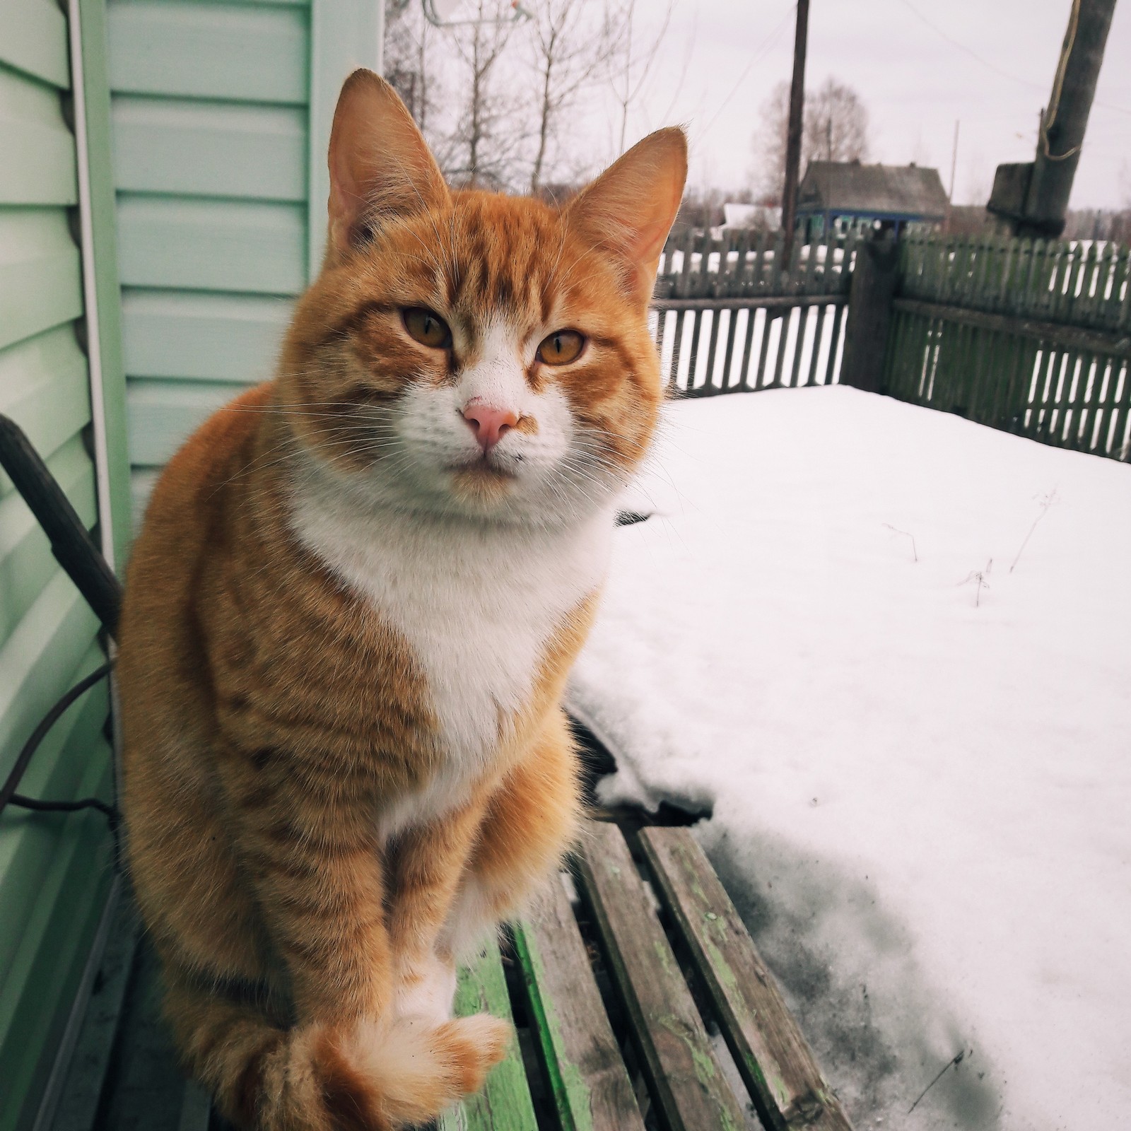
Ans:
{"label": "cat's ear on the right, orange, nearest the fence", "polygon": [[688,178],[688,139],[671,127],[649,133],[570,201],[570,227],[618,262],[628,293],[651,297],[664,241]]}

